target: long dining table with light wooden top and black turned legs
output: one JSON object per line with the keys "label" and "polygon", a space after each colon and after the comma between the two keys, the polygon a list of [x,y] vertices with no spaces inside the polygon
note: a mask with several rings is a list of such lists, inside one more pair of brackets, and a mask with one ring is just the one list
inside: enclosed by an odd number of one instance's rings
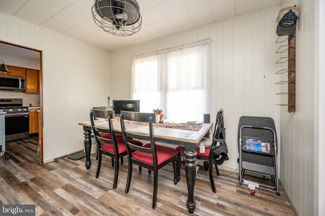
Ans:
{"label": "long dining table with light wooden top and black turned legs", "polygon": [[[79,125],[83,126],[84,130],[84,146],[86,153],[86,163],[85,166],[87,169],[91,166],[90,161],[90,150],[91,150],[91,124],[90,121],[80,122]],[[95,125],[100,127],[108,127],[108,121],[98,120],[95,122]],[[202,123],[200,124],[198,130],[186,129],[184,128],[174,128],[174,127],[163,127],[160,125],[154,126],[154,137],[155,142],[167,143],[176,146],[184,146],[185,147],[185,175],[186,175],[186,183],[188,190],[188,198],[186,201],[186,205],[189,213],[194,212],[194,208],[196,207],[196,203],[194,200],[194,185],[197,175],[197,165],[196,165],[196,148],[197,144],[200,143],[202,138],[209,132],[213,123]],[[121,125],[119,122],[114,122],[114,132],[115,134],[121,134]],[[128,131],[136,132],[139,134],[149,134],[149,126],[141,125],[135,123],[126,123]]]}

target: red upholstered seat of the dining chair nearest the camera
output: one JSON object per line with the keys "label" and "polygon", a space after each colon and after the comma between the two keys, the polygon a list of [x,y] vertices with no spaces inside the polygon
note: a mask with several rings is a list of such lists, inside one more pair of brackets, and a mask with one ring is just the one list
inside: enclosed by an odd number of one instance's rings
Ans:
{"label": "red upholstered seat of the dining chair nearest the camera", "polygon": [[[150,143],[144,145],[143,147],[150,148]],[[156,145],[156,152],[157,152],[157,165],[171,159],[172,157],[176,156],[179,151],[177,149],[169,148],[166,146],[159,146]],[[140,151],[135,151],[132,153],[132,157],[141,160],[143,162],[153,164],[153,158],[151,153],[144,153]]]}

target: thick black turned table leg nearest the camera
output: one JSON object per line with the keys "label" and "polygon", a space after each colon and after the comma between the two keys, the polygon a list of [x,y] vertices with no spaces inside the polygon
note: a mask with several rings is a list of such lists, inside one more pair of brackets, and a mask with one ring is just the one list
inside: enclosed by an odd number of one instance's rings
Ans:
{"label": "thick black turned table leg nearest the camera", "polygon": [[188,190],[188,198],[186,201],[186,205],[188,208],[189,213],[193,213],[194,208],[196,207],[195,200],[194,200],[194,186],[195,186],[195,179],[197,176],[197,165],[195,161],[197,160],[197,152],[195,151],[195,144],[194,146],[187,146],[185,145],[185,156],[186,156],[186,163],[185,163],[185,175],[186,175],[186,182],[187,182],[187,190]]}

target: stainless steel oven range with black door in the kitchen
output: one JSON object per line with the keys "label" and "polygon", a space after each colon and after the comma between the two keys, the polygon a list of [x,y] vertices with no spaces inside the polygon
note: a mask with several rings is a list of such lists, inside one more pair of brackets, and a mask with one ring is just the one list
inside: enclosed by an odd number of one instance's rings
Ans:
{"label": "stainless steel oven range with black door in the kitchen", "polygon": [[29,111],[22,99],[0,99],[0,110],[5,114],[6,142],[29,137]]}

